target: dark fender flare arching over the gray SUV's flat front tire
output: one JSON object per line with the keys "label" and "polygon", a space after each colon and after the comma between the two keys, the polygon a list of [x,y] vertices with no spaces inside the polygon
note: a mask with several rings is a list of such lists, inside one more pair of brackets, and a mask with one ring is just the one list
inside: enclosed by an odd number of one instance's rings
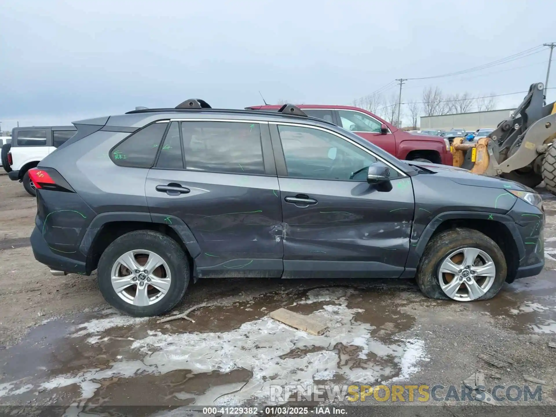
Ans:
{"label": "dark fender flare arching over the gray SUV's flat front tire", "polygon": [[[502,223],[507,227],[510,234],[514,238],[515,245],[518,248],[519,257],[525,256],[525,246],[523,244],[522,236],[519,234],[515,220],[512,217],[504,214],[495,214],[482,211],[447,211],[434,217],[426,226],[417,240],[410,240],[408,260],[405,262],[405,271],[402,277],[413,277],[417,270],[417,266],[423,256],[426,245],[429,243],[434,231],[445,220],[452,219],[479,219],[479,220],[492,220]],[[415,227],[415,226],[414,226]]]}

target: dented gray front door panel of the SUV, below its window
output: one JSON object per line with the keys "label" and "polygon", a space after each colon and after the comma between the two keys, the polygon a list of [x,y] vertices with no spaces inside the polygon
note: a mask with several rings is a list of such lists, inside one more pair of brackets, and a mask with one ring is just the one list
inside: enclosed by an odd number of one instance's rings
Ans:
{"label": "dented gray front door panel of the SUV, below its window", "polygon": [[[366,182],[279,178],[285,277],[399,277],[409,251],[411,178],[381,192]],[[315,205],[285,198],[305,194]]]}

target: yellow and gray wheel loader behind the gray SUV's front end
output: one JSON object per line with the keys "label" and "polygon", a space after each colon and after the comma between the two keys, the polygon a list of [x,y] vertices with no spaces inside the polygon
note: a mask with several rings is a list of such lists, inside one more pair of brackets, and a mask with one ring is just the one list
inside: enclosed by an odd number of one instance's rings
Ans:
{"label": "yellow and gray wheel loader behind the gray SUV's front end", "polygon": [[544,84],[529,87],[513,116],[499,123],[476,143],[455,138],[454,166],[471,172],[500,176],[536,187],[544,181],[556,195],[556,102],[544,103]]}

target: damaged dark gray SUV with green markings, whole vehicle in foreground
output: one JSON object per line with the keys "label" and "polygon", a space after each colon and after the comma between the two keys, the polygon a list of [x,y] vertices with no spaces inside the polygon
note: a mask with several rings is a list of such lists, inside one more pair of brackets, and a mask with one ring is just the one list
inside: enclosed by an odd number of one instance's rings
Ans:
{"label": "damaged dark gray SUV with green markings, whole vehicle in foreground", "polygon": [[203,277],[416,277],[426,296],[470,301],[544,265],[535,191],[400,161],[296,106],[187,100],[74,124],[29,171],[34,256],[55,275],[97,270],[133,316]]}

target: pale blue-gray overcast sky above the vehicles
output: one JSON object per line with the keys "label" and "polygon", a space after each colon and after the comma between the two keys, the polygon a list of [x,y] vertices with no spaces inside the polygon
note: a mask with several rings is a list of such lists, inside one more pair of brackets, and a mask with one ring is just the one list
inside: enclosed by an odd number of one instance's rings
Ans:
{"label": "pale blue-gray overcast sky above the vehicles", "polygon": [[[546,0],[2,0],[0,122],[66,124],[192,97],[245,107],[261,104],[259,90],[269,103],[348,104],[394,78],[556,42],[554,16]],[[545,81],[549,52],[539,51],[408,81],[402,102],[421,101],[428,85],[475,96],[528,90]],[[498,108],[523,96],[499,97]]]}

